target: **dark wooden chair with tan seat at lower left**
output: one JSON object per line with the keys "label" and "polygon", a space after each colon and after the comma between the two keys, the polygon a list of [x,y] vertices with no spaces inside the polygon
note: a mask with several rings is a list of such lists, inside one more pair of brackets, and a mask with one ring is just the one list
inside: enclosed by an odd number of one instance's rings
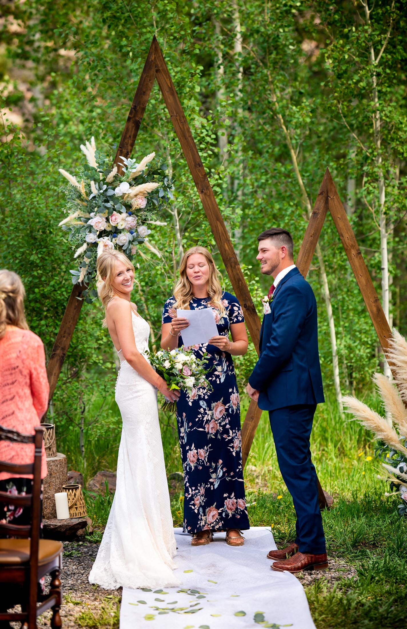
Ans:
{"label": "dark wooden chair with tan seat at lower left", "polygon": [[[42,435],[41,426],[35,428],[35,435],[21,435],[17,431],[0,426],[0,440],[35,445],[32,464],[15,465],[0,461],[0,472],[16,475],[33,474],[31,494],[10,496],[0,491],[0,504],[11,503],[20,507],[31,507],[30,525],[0,523],[0,535],[2,533],[13,535],[13,538],[0,538],[0,592],[3,584],[15,587],[18,590],[18,602],[21,603],[20,613],[0,611],[0,622],[21,621],[21,626],[25,629],[36,629],[36,618],[49,608],[53,611],[51,626],[53,628],[62,626],[59,615],[62,604],[60,582],[62,543],[40,540]],[[52,579],[50,591],[48,594],[38,596],[38,581],[48,573]]]}

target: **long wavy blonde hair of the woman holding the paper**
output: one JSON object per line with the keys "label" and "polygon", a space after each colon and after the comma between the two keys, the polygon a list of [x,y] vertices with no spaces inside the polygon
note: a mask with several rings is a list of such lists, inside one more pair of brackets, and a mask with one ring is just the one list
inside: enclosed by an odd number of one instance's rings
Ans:
{"label": "long wavy blonde hair of the woman holding the paper", "polygon": [[206,247],[191,247],[182,256],[181,265],[179,267],[179,280],[174,288],[174,297],[176,303],[174,308],[182,310],[190,310],[189,302],[194,298],[194,292],[192,290],[192,284],[187,276],[187,260],[190,255],[194,253],[201,253],[206,258],[206,262],[209,265],[209,279],[206,290],[208,291],[209,302],[213,308],[218,309],[220,315],[225,315],[225,308],[222,304],[222,288],[220,285],[220,272],[216,269],[215,260],[213,259],[211,252]]}

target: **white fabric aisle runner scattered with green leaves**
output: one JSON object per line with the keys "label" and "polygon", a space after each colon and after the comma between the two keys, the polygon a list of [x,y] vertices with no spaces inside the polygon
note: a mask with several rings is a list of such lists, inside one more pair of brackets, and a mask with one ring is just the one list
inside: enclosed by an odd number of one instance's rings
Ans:
{"label": "white fabric aisle runner scattered with green leaves", "polygon": [[226,544],[225,533],[193,548],[191,535],[181,528],[175,533],[174,574],[182,585],[155,592],[123,588],[120,629],[246,629],[273,623],[315,629],[301,583],[270,569],[266,555],[276,544],[268,528],[244,531],[245,545],[238,548]]}

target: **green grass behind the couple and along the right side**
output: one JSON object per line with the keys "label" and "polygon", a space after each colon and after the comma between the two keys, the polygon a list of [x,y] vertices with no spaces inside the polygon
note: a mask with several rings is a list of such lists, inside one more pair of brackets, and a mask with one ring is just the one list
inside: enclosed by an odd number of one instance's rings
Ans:
{"label": "green grass behind the couple and along the right side", "polygon": [[[375,406],[376,401],[369,399],[368,403]],[[167,474],[181,471],[175,418],[162,415],[160,420]],[[89,478],[98,469],[116,468],[119,442],[120,430],[98,440],[88,441],[85,434],[86,468],[81,467],[72,435],[67,447],[63,443],[61,447],[65,448],[63,452],[76,452],[76,469]],[[357,572],[356,579],[343,578],[335,586],[321,576],[306,587],[318,629],[407,628],[407,518],[396,511],[398,498],[384,496],[388,487],[377,478],[381,470],[374,457],[374,445],[364,428],[340,417],[335,404],[328,401],[318,407],[311,436],[313,461],[321,485],[335,498],[335,507],[323,512],[328,554],[335,556],[339,565],[352,565]],[[270,526],[277,544],[291,541],[293,502],[278,469],[266,413],[248,457],[245,485],[251,525]],[[94,525],[101,528],[107,520],[111,496],[87,495],[86,499]],[[171,501],[175,526],[182,525],[182,500],[183,496],[177,494]],[[101,532],[96,532],[92,539],[98,541],[100,537]]]}

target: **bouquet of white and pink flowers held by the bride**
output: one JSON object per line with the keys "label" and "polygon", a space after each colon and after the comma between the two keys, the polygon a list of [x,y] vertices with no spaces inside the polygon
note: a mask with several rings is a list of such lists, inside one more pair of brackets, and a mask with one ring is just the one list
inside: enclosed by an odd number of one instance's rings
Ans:
{"label": "bouquet of white and pink flowers held by the bride", "polygon": [[[167,382],[170,390],[184,389],[199,395],[199,389],[211,387],[206,379],[206,374],[211,369],[206,369],[208,359],[205,355],[203,358],[197,358],[192,350],[186,350],[182,347],[149,354],[148,360]],[[162,409],[163,411],[175,411],[176,402],[165,402]]]}

